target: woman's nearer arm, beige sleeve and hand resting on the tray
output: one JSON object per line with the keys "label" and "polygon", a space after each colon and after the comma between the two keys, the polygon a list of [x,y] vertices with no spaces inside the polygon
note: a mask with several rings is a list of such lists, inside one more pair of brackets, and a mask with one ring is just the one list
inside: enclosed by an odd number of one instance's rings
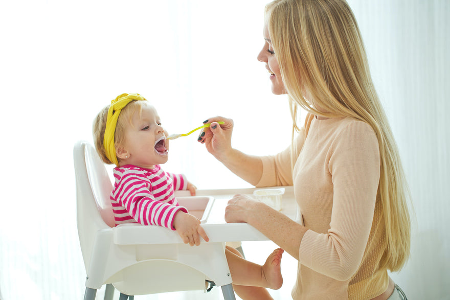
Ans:
{"label": "woman's nearer arm, beige sleeve and hand resting on the tray", "polygon": [[[341,132],[330,148],[333,151],[326,165],[333,193],[330,228],[326,233],[308,230],[244,195],[229,201],[225,220],[251,224],[302,265],[346,281],[361,265],[371,232],[379,181],[379,147],[370,126],[358,122],[351,130]],[[325,216],[325,212],[324,216],[321,214],[309,218]]]}

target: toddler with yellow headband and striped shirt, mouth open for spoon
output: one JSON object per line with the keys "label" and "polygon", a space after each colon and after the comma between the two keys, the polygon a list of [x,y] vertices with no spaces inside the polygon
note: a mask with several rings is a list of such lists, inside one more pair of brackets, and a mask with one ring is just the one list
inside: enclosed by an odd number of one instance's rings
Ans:
{"label": "toddler with yellow headband and striped shirt, mouth open for spoon", "polygon": [[[165,172],[160,165],[169,158],[167,132],[156,109],[139,94],[122,94],[103,108],[93,126],[97,152],[107,164],[115,164],[115,183],[110,199],[116,225],[140,223],[176,230],[184,243],[209,241],[200,220],[178,204],[174,190],[195,186],[182,174]],[[282,285],[280,261],[283,250],[276,249],[263,266],[244,260],[226,247],[233,287],[243,299],[271,299],[264,287]]]}

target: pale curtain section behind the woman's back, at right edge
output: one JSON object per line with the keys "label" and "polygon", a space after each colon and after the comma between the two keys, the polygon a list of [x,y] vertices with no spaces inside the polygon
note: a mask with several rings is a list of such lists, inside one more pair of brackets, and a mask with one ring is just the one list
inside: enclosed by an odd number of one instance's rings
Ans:
{"label": "pale curtain section behind the woman's back, at right edge", "polygon": [[412,195],[411,259],[393,279],[408,299],[450,298],[450,2],[348,0]]}

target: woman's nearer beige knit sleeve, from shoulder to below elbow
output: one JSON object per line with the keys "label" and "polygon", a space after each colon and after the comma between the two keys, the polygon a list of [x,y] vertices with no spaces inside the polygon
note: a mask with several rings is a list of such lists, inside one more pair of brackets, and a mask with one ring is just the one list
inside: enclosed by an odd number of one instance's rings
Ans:
{"label": "woman's nearer beige knit sleeve, from shoulder to below elbow", "polygon": [[338,134],[327,157],[333,184],[330,228],[307,230],[299,261],[335,280],[346,281],[361,264],[377,197],[380,157],[373,129],[352,122]]}

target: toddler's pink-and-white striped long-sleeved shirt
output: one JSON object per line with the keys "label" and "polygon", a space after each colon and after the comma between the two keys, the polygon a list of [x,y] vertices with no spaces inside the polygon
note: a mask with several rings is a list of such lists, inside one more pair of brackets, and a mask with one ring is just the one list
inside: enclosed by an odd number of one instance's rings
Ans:
{"label": "toddler's pink-and-white striped long-sleeved shirt", "polygon": [[115,184],[110,199],[116,225],[140,223],[160,225],[172,230],[178,211],[187,213],[175,199],[175,190],[186,190],[183,174],[166,173],[159,165],[144,169],[132,165],[114,168]]}

